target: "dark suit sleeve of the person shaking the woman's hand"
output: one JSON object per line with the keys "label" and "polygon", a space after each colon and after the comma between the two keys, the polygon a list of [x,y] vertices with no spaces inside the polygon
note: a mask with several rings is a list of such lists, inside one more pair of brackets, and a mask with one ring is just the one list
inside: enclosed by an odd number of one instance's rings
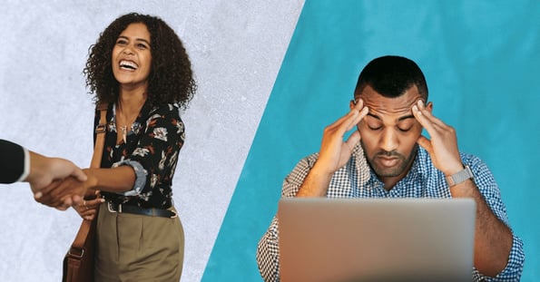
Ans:
{"label": "dark suit sleeve of the person shaking the woman's hand", "polygon": [[0,183],[13,183],[25,171],[25,150],[14,142],[0,139]]}

